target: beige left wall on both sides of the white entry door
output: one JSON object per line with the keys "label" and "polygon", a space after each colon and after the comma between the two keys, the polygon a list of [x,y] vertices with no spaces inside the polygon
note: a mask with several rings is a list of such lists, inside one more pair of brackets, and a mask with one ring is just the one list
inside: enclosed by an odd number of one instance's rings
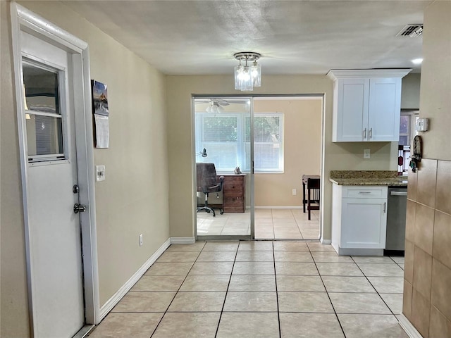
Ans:
{"label": "beige left wall on both sides of the white entry door", "polygon": [[[100,303],[103,305],[169,237],[165,77],[56,1],[23,6],[85,40],[91,76],[108,84],[110,147],[96,183]],[[25,243],[11,66],[9,6],[1,1],[1,337],[27,337]],[[139,234],[144,245],[139,246]]]}

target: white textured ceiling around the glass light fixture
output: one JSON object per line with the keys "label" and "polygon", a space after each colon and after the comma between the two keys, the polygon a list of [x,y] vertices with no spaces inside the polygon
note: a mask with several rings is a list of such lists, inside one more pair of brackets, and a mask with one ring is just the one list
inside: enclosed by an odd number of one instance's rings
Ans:
{"label": "white textured ceiling around the glass light fixture", "polygon": [[[230,74],[238,51],[260,53],[263,74],[414,68],[432,1],[63,1],[165,74]],[[426,27],[427,29],[427,27]]]}

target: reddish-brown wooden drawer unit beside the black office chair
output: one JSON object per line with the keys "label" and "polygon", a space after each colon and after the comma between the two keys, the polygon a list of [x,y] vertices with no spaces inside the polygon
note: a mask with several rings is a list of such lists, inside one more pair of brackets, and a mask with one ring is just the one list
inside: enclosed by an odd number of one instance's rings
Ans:
{"label": "reddish-brown wooden drawer unit beside the black office chair", "polygon": [[244,213],[246,210],[246,175],[222,175],[225,213]]}

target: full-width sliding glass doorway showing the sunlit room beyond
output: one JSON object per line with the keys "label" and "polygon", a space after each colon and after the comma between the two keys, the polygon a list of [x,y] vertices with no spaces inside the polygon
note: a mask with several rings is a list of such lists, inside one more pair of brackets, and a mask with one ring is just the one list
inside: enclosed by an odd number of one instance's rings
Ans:
{"label": "full-width sliding glass doorway showing the sunlit room beyond", "polygon": [[[321,185],[309,215],[302,176],[321,175],[323,95],[246,96],[249,103],[238,108],[245,113],[237,113],[233,106],[243,98],[193,97],[195,161],[215,163],[215,183],[223,176],[223,189],[209,192],[206,203],[215,215],[204,208],[205,194],[194,185],[197,237],[318,240]],[[198,180],[195,176],[194,183]]]}

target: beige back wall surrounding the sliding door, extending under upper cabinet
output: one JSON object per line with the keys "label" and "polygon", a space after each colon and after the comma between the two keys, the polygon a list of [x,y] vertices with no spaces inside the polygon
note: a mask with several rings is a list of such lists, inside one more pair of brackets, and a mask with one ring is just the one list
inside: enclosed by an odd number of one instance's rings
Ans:
{"label": "beige back wall surrounding the sliding door, extending under upper cabinet", "polygon": [[[263,59],[262,59],[263,60]],[[262,61],[263,62],[263,61]],[[262,85],[252,94],[326,94],[324,159],[323,159],[323,223],[324,237],[330,239],[330,206],[332,186],[330,170],[397,170],[397,142],[332,143],[332,87],[325,75],[264,75]],[[194,234],[194,160],[192,142],[192,94],[230,94],[233,75],[167,77],[168,98],[168,160],[171,180],[169,204],[177,206],[170,214],[171,236],[191,237]],[[364,149],[371,149],[371,158],[364,160]],[[188,204],[187,201],[191,203]]]}

